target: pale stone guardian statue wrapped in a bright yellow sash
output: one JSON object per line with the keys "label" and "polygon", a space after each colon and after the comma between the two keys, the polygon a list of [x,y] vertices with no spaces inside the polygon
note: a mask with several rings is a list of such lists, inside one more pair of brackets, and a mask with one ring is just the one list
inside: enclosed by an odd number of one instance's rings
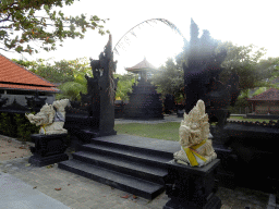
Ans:
{"label": "pale stone guardian statue wrapped in a bright yellow sash", "polygon": [[203,167],[217,158],[213,142],[208,139],[211,135],[203,100],[198,100],[189,114],[184,113],[179,136],[181,150],[173,153],[175,162],[191,167]]}

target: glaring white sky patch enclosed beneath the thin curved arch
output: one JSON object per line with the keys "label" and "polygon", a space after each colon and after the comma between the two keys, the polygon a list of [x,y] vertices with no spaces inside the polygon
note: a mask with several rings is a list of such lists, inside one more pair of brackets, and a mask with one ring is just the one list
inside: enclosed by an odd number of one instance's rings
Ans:
{"label": "glaring white sky patch enclosed beneath the thin curved arch", "polygon": [[183,38],[162,23],[143,25],[134,30],[136,37],[129,35],[123,38],[118,60],[118,74],[125,74],[124,67],[131,67],[143,61],[144,58],[154,66],[165,64],[168,58],[174,58],[183,48]]}

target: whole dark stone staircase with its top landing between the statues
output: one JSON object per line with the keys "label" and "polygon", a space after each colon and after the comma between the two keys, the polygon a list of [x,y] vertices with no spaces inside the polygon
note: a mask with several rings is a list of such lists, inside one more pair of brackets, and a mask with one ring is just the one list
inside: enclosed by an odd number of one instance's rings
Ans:
{"label": "whole dark stone staircase with its top landing between the statues", "polygon": [[165,163],[179,149],[177,142],[130,135],[97,137],[82,145],[73,159],[60,162],[58,168],[154,199],[165,190]]}

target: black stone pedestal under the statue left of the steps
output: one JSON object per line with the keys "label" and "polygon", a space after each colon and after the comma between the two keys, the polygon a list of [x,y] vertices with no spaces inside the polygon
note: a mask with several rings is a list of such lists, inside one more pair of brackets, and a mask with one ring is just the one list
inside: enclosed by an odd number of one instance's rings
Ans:
{"label": "black stone pedestal under the statue left of the steps", "polygon": [[35,143],[35,147],[31,147],[34,156],[29,158],[29,163],[36,167],[45,167],[69,160],[69,156],[64,153],[66,134],[33,134],[31,138]]}

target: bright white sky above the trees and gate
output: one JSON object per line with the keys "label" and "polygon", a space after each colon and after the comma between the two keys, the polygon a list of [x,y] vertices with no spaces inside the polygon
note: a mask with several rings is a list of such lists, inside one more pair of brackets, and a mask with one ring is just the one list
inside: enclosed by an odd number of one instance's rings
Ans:
{"label": "bright white sky above the trees and gate", "polygon": [[[134,66],[144,58],[159,67],[168,58],[182,51],[182,37],[159,22],[141,25],[135,30],[137,37],[129,36],[130,44],[121,39],[131,28],[151,19],[168,20],[190,40],[192,17],[199,27],[199,35],[203,29],[208,29],[215,39],[244,46],[253,44],[265,47],[266,57],[279,57],[278,5],[278,0],[80,0],[64,7],[62,12],[73,16],[84,13],[109,19],[104,26],[112,35],[112,46],[120,40],[124,46],[119,54],[114,53],[117,73],[123,74],[125,67]],[[56,61],[84,57],[98,59],[108,38],[97,30],[88,30],[84,39],[66,39],[56,51],[40,50],[32,57],[27,53],[23,57],[27,60],[53,58]],[[1,53],[10,59],[22,58],[16,52]]]}

